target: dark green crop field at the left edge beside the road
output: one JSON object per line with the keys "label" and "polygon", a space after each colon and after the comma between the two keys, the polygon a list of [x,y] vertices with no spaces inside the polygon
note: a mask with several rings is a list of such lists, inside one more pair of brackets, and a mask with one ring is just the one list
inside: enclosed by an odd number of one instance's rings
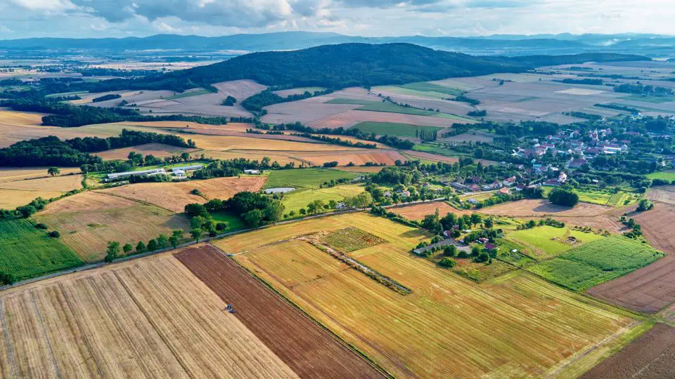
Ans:
{"label": "dark green crop field at the left edge beside the road", "polygon": [[17,279],[82,265],[60,239],[33,227],[28,220],[0,221],[0,271]]}

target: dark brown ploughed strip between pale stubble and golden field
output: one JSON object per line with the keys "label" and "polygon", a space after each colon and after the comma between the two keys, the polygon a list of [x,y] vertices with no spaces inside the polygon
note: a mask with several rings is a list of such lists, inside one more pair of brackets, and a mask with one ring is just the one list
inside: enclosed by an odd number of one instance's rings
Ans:
{"label": "dark brown ploughed strip between pale stubble and golden field", "polygon": [[222,300],[232,304],[234,316],[301,378],[383,377],[214,246],[188,248],[175,256]]}

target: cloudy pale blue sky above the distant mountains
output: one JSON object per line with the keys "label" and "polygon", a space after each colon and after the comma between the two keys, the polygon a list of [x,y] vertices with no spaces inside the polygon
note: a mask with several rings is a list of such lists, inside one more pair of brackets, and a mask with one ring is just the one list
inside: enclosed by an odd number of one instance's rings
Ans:
{"label": "cloudy pale blue sky above the distant mountains", "polygon": [[362,36],[675,34],[673,0],[0,0],[0,39],[307,30]]}

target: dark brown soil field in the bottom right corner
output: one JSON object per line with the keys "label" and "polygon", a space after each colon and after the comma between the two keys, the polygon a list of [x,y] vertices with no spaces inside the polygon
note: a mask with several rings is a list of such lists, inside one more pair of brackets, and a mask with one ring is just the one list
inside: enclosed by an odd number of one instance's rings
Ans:
{"label": "dark brown soil field in the bottom right corner", "polygon": [[674,372],[675,328],[657,324],[581,378],[672,378]]}

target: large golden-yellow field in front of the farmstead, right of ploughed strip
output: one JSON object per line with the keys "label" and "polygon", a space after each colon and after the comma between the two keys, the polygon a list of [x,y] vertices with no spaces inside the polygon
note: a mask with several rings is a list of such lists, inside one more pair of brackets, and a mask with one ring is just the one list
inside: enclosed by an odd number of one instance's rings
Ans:
{"label": "large golden-yellow field in front of the farmstead, right of ploughed strip", "polygon": [[[413,292],[400,295],[294,240],[345,227],[387,241],[349,256]],[[413,258],[410,249],[428,238],[383,218],[352,214],[278,225],[216,244],[396,376],[541,376],[629,323],[599,302],[525,272],[479,285]]]}

